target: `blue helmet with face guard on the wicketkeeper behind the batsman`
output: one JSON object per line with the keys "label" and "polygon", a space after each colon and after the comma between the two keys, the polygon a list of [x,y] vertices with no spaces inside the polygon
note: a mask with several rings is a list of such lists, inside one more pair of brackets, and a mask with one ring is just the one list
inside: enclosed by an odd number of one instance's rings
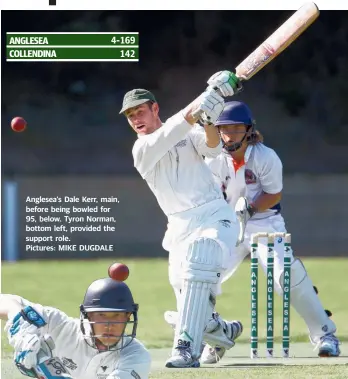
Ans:
{"label": "blue helmet with face guard on the wicketkeeper behind the batsman", "polygon": [[[252,134],[255,132],[255,121],[253,120],[253,116],[250,108],[241,101],[230,101],[225,104],[224,110],[220,114],[220,117],[215,123],[215,126],[223,126],[223,125],[238,125],[243,124],[247,126],[247,132],[251,133],[250,136],[252,138]],[[243,139],[240,142],[236,142],[233,144],[226,145],[223,141],[223,148],[227,152],[236,151],[240,149],[244,139],[247,136],[247,132],[245,133]]]}

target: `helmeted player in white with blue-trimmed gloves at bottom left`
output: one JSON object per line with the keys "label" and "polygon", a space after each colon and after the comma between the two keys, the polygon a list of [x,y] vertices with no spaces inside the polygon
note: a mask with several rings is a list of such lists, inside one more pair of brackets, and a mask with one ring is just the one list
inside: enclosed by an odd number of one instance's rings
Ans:
{"label": "helmeted player in white with blue-trimmed gloves at bottom left", "polygon": [[[148,379],[151,357],[135,339],[137,314],[128,286],[110,278],[88,287],[80,319],[19,296],[0,295],[0,318],[8,320],[5,331],[15,364],[34,378]],[[48,336],[54,347],[46,343]],[[47,363],[52,357],[54,364]],[[38,376],[38,367],[45,375]]]}

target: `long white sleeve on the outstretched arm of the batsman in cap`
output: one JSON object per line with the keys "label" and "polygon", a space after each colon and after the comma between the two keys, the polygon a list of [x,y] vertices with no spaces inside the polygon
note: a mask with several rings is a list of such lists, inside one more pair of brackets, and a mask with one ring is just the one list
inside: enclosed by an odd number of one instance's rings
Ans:
{"label": "long white sleeve on the outstretched arm of the batsman in cap", "polygon": [[141,136],[133,147],[134,167],[145,178],[156,163],[185,138],[192,126],[181,112],[169,118],[159,129],[151,134]]}

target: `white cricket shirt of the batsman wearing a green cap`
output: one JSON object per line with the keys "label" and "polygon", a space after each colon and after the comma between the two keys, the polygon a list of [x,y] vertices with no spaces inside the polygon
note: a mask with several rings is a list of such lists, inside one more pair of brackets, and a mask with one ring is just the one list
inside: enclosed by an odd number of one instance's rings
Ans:
{"label": "white cricket shirt of the batsman wearing a green cap", "polygon": [[221,151],[221,143],[208,147],[204,128],[191,126],[179,112],[154,133],[139,136],[134,166],[170,216],[223,199],[202,157],[215,158]]}

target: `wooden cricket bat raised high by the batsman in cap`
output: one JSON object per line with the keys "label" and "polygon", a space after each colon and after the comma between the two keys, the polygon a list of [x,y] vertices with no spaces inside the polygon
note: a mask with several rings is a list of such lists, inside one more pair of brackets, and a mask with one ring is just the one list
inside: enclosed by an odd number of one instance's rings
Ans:
{"label": "wooden cricket bat raised high by the batsman in cap", "polygon": [[[236,76],[241,81],[252,78],[292,44],[319,17],[319,13],[315,3],[304,4],[236,67]],[[195,112],[194,117],[201,113]]]}

